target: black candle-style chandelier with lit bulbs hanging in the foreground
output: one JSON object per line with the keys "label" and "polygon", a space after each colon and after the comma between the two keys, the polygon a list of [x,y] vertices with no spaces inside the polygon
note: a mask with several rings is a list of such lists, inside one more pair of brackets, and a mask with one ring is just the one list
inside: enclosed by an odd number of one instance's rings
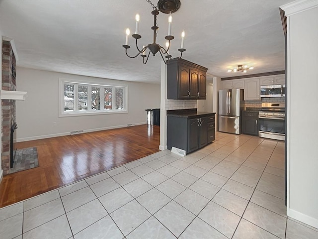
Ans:
{"label": "black candle-style chandelier with lit bulbs hanging in the foreground", "polygon": [[[130,35],[130,30],[129,28],[126,29],[126,41],[125,41],[125,45],[123,45],[123,47],[125,48],[126,51],[126,55],[129,58],[136,58],[137,56],[141,55],[143,58],[143,63],[146,64],[148,61],[148,58],[150,56],[150,54],[152,53],[153,56],[155,56],[157,54],[157,52],[160,53],[161,58],[163,60],[163,62],[165,64],[166,61],[163,58],[163,56],[165,56],[165,58],[169,61],[171,59],[171,55],[169,54],[169,48],[170,48],[170,41],[174,39],[174,36],[171,35],[171,24],[172,24],[172,16],[171,13],[177,11],[180,7],[180,0],[159,0],[158,1],[158,6],[155,6],[150,0],[146,0],[147,2],[149,2],[152,6],[153,6],[153,11],[151,12],[151,14],[154,15],[154,26],[151,27],[151,29],[154,31],[154,38],[153,38],[153,43],[148,44],[147,46],[143,46],[143,48],[139,48],[138,47],[138,39],[141,38],[141,35],[138,34],[138,30],[139,30],[139,21],[140,21],[140,16],[139,14],[136,14],[136,28],[135,28],[135,34],[132,34],[132,37],[136,39],[136,48],[137,48],[137,55],[135,56],[130,56],[127,53],[127,50],[130,48],[130,45],[128,45],[128,36]],[[165,43],[165,47],[160,46],[158,43],[156,43],[157,40],[157,30],[159,29],[159,27],[157,26],[157,15],[159,14],[159,11],[163,12],[163,13],[169,13],[169,17],[168,17],[168,35],[166,35],[164,37],[164,39],[166,39],[166,43]],[[181,34],[181,47],[178,49],[179,52],[181,52],[180,57],[182,57],[182,52],[185,51],[185,49],[183,48],[184,45],[184,30]],[[147,54],[147,50],[149,49],[149,52]]]}

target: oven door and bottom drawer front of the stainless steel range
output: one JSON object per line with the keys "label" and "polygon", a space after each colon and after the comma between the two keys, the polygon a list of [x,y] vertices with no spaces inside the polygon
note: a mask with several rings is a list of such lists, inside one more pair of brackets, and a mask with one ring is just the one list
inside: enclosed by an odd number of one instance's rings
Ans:
{"label": "oven door and bottom drawer front of the stainless steel range", "polygon": [[258,136],[263,138],[272,138],[285,140],[285,118],[275,116],[258,117]]}

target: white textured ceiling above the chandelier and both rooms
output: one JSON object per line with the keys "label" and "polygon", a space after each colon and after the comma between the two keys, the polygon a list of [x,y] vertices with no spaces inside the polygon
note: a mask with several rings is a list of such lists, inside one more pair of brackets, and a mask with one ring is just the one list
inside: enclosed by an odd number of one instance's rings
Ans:
{"label": "white textured ceiling above the chandelier and both rooms", "polygon": [[[246,74],[285,68],[284,34],[279,6],[293,0],[180,0],[172,14],[170,54],[178,57],[185,29],[183,57],[209,68],[208,74],[231,77],[239,64]],[[152,0],[157,5],[157,0]],[[137,82],[160,82],[161,57],[125,55],[125,29],[135,29],[139,46],[152,43],[153,10],[146,0],[0,0],[2,36],[13,38],[18,66]],[[158,15],[157,43],[164,46],[168,15]],[[136,53],[134,39],[129,52]]]}

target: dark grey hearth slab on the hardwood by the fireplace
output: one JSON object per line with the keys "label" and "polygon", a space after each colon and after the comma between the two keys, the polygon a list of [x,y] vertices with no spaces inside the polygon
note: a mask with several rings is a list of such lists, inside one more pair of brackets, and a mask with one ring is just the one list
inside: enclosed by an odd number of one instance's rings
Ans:
{"label": "dark grey hearth slab on the hardwood by the fireplace", "polygon": [[13,161],[13,167],[9,173],[15,173],[39,166],[38,151],[36,147],[17,149]]}

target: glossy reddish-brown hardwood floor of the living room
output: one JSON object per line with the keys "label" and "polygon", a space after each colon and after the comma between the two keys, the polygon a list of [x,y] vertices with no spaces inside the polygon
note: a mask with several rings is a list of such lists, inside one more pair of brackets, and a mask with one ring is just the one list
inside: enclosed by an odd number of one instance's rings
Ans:
{"label": "glossy reddish-brown hardwood floor of the living room", "polygon": [[138,125],[17,143],[37,147],[39,167],[5,175],[0,208],[159,151],[160,129]]}

